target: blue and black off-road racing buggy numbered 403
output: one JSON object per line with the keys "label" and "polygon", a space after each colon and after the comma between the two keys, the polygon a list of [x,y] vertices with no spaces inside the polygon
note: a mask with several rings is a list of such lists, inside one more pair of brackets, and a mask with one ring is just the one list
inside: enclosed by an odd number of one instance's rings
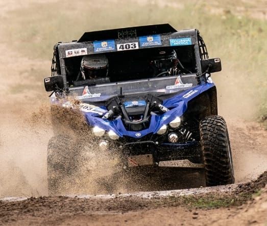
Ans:
{"label": "blue and black off-road racing buggy numbered 403", "polygon": [[208,186],[234,183],[227,126],[217,115],[210,77],[217,71],[221,61],[209,59],[198,30],[169,24],[87,32],[57,43],[45,89],[53,91],[52,107],[82,112],[85,127],[65,126],[88,134],[69,138],[55,122],[47,152],[50,192],[79,167],[83,137],[98,144],[96,152],[117,153],[124,168],[176,161],[203,167]]}

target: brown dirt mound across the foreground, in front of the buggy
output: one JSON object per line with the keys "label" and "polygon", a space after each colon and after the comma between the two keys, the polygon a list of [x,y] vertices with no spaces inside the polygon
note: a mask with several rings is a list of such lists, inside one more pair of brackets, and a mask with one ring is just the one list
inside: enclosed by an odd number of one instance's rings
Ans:
{"label": "brown dirt mound across the foreground, in front of the buggy", "polygon": [[[260,191],[259,189],[266,183],[267,172],[264,172],[258,179],[240,185],[235,192],[155,196],[152,199],[143,199],[138,196],[113,199],[41,196],[19,202],[0,201],[0,223],[12,225],[31,222],[51,225],[67,223],[151,225],[159,222],[170,224],[184,222],[187,225],[196,223],[225,225],[226,222],[229,224],[233,222],[237,224],[262,223],[267,220],[265,214],[267,187]],[[256,191],[258,192],[255,193]],[[245,205],[243,205],[244,202]],[[170,213],[172,213],[171,218]]]}

